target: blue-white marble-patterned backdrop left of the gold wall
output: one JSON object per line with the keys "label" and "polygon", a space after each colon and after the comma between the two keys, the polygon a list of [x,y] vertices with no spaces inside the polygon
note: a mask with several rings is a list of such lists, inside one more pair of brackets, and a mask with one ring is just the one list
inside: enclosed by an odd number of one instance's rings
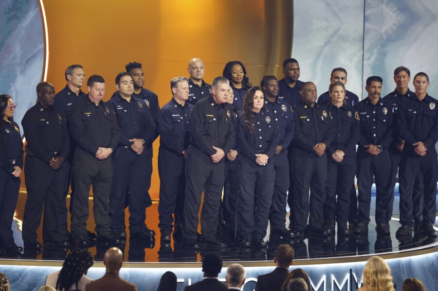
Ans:
{"label": "blue-white marble-patterned backdrop left of the gold wall", "polygon": [[[21,127],[27,109],[37,101],[44,40],[38,0],[0,0],[0,94],[18,105],[14,115]],[[22,133],[22,131],[21,131]]]}

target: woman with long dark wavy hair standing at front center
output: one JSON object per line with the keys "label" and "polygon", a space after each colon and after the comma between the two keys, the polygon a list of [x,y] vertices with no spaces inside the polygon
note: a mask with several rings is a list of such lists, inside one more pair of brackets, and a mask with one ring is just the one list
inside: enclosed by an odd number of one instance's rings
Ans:
{"label": "woman with long dark wavy hair standing at front center", "polygon": [[241,247],[266,248],[274,191],[275,149],[279,142],[274,115],[264,108],[263,92],[252,87],[243,99],[238,121],[237,233]]}

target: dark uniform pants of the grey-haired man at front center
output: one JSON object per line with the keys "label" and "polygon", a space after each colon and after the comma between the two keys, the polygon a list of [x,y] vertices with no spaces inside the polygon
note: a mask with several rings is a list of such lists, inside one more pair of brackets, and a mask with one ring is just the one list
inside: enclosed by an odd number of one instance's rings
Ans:
{"label": "dark uniform pants of the grey-haired man at front center", "polygon": [[219,206],[225,180],[225,161],[213,163],[209,154],[189,146],[185,164],[184,240],[196,240],[198,213],[202,191],[201,232],[206,240],[214,240],[218,224]]}

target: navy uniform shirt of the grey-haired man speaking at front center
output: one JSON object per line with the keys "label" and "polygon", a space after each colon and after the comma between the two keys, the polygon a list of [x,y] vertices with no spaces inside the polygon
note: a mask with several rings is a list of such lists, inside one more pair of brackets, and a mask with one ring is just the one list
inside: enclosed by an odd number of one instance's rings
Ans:
{"label": "navy uniform shirt of the grey-haired man speaking at front center", "polygon": [[228,154],[236,142],[230,103],[218,104],[213,96],[201,99],[193,107],[190,144],[208,155],[216,154],[213,146]]}

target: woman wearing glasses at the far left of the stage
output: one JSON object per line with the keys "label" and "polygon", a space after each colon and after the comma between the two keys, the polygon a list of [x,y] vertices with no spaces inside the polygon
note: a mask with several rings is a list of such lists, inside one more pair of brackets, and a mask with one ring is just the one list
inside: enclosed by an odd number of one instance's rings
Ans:
{"label": "woman wearing glasses at the far left of the stage", "polygon": [[3,254],[23,250],[15,244],[11,229],[23,167],[23,141],[13,119],[16,107],[11,96],[0,95],[0,248]]}

